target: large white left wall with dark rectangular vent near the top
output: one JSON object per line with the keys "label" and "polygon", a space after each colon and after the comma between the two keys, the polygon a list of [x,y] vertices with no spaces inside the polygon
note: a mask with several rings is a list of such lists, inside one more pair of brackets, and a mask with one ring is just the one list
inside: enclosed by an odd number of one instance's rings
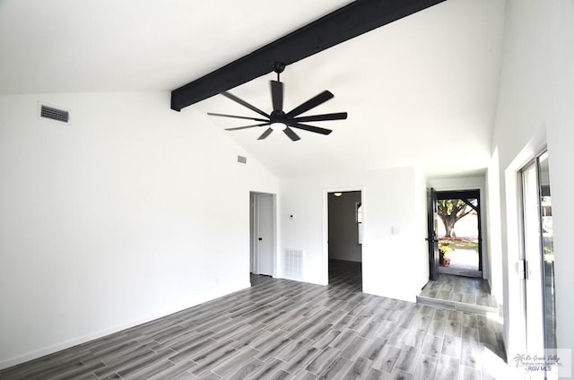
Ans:
{"label": "large white left wall with dark rectangular vent near the top", "polygon": [[0,368],[248,287],[238,154],[168,92],[0,97]]}

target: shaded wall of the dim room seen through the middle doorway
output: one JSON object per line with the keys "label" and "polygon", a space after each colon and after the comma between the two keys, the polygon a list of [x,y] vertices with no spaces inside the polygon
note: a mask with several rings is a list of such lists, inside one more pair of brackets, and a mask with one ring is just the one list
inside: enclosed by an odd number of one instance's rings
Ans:
{"label": "shaded wall of the dim room seen through the middle doorway", "polygon": [[357,227],[357,202],[361,192],[346,192],[341,196],[328,196],[329,258],[361,262],[361,244]]}

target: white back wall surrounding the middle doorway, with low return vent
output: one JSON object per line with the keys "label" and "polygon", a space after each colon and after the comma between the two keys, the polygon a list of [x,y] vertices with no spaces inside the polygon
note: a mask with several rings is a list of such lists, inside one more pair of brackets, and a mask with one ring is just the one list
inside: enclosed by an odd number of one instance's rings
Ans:
{"label": "white back wall surrounding the middle doorway, with low return vent", "polygon": [[303,281],[326,284],[326,196],[351,190],[362,191],[363,291],[414,301],[429,276],[424,182],[414,168],[282,179],[282,248],[303,249]]}

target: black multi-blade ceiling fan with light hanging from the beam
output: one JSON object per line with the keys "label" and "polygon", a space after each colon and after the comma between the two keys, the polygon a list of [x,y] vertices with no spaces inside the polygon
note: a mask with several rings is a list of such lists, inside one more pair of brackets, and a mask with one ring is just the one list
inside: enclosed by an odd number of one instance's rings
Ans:
{"label": "black multi-blade ceiling fan with light hanging from the beam", "polygon": [[257,114],[261,115],[265,118],[260,117],[241,117],[236,115],[226,115],[226,114],[216,114],[213,112],[208,112],[207,115],[213,117],[232,117],[232,118],[239,118],[245,120],[252,120],[259,122],[259,124],[254,125],[244,125],[238,126],[234,128],[226,128],[226,131],[237,131],[239,129],[247,129],[247,128],[255,128],[260,126],[269,125],[265,132],[259,136],[257,140],[264,140],[269,134],[273,131],[283,131],[284,134],[294,142],[300,140],[299,135],[295,134],[295,132],[291,128],[302,129],[304,131],[314,132],[316,134],[330,134],[333,132],[330,129],[326,128],[319,128],[318,126],[313,125],[306,125],[301,124],[303,122],[314,122],[314,121],[327,121],[327,120],[344,120],[347,118],[346,112],[337,112],[333,114],[323,114],[323,115],[313,115],[309,117],[299,117],[300,114],[309,111],[311,108],[316,108],[317,106],[325,103],[329,99],[333,99],[335,95],[333,95],[330,91],[323,91],[317,96],[307,100],[306,102],[300,104],[298,107],[291,109],[291,111],[285,113],[283,111],[283,82],[279,81],[279,74],[283,73],[285,69],[285,65],[282,63],[275,63],[273,65],[274,72],[277,73],[277,80],[270,81],[271,82],[271,99],[273,103],[273,112],[271,114],[267,114],[266,112],[262,111],[261,109],[252,106],[247,101],[243,99],[239,99],[235,95],[231,94],[230,92],[223,91],[222,95],[226,98],[229,98],[241,106],[251,109]]}

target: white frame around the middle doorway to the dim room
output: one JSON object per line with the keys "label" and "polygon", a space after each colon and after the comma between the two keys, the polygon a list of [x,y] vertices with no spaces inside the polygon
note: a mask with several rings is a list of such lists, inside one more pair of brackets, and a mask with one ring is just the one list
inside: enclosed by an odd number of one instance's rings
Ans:
{"label": "white frame around the middle doorway to the dim room", "polygon": [[[323,255],[321,257],[321,268],[322,268],[321,285],[329,284],[329,193],[339,193],[339,192],[344,193],[351,191],[361,192],[362,230],[363,230],[361,250],[363,254],[365,252],[365,246],[366,244],[368,244],[368,239],[365,238],[366,237],[365,223],[367,221],[367,213],[368,213],[365,212],[367,210],[367,208],[365,207],[365,200],[366,200],[365,188],[363,186],[337,186],[337,187],[324,188],[323,189]],[[361,261],[361,267],[362,263],[364,262],[364,257],[365,256],[362,255],[361,260],[363,261]],[[363,283],[361,284],[361,286],[363,286],[363,284],[365,283],[364,276],[362,282]]]}

